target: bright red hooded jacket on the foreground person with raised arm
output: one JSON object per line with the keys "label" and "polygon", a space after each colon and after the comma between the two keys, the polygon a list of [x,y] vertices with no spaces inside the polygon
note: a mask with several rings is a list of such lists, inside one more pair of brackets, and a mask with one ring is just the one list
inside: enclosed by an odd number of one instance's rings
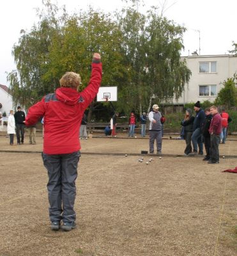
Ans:
{"label": "bright red hooded jacket on the foreground person with raised arm", "polygon": [[43,152],[69,154],[80,150],[79,127],[86,108],[95,98],[102,80],[102,63],[92,63],[91,79],[82,91],[57,88],[29,108],[26,125],[44,116]]}

